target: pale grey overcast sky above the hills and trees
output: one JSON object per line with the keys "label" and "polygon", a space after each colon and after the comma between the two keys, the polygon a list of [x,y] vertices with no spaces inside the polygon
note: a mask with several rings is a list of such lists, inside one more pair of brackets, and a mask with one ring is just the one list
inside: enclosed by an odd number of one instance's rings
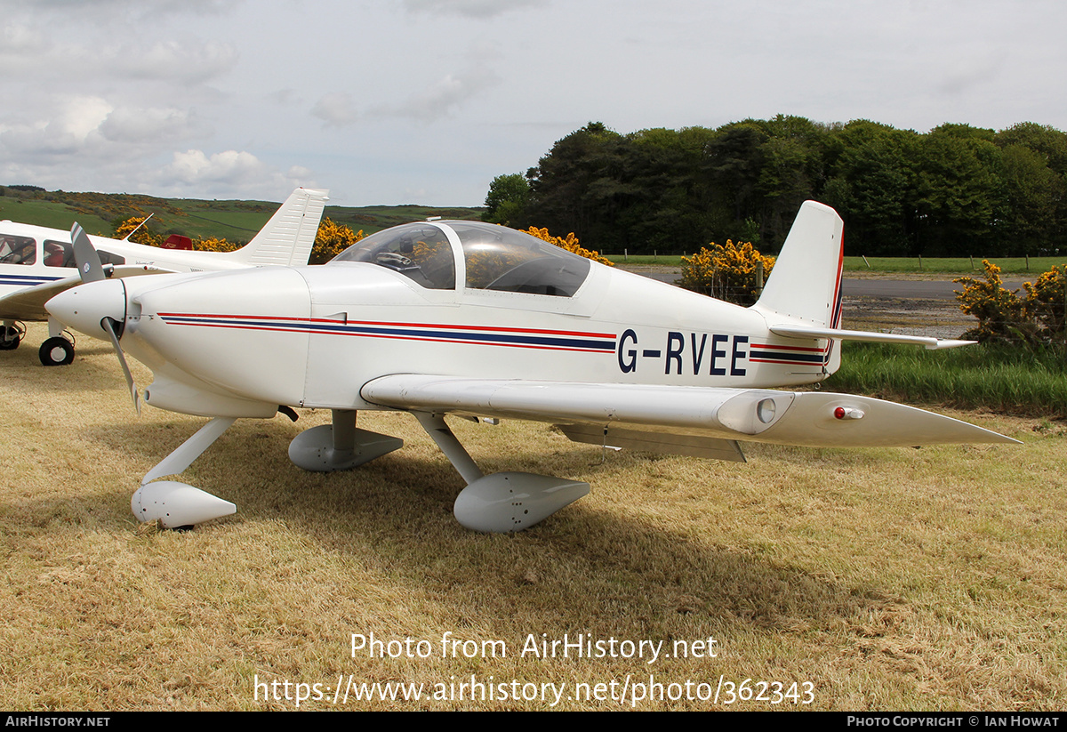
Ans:
{"label": "pale grey overcast sky above the hills and trees", "polygon": [[587,122],[1067,130],[1041,0],[0,0],[0,185],[481,205]]}

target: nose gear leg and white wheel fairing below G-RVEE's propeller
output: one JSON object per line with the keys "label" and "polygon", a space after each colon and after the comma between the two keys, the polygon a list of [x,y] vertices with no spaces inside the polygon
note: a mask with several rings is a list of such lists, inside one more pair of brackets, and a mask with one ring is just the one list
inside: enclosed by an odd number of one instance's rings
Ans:
{"label": "nose gear leg and white wheel fairing below G-RVEE's propeller", "polygon": [[234,504],[198,488],[174,480],[150,482],[185,471],[235,421],[235,417],[213,418],[148,471],[130,500],[130,508],[139,521],[158,519],[163,528],[186,528],[237,512]]}

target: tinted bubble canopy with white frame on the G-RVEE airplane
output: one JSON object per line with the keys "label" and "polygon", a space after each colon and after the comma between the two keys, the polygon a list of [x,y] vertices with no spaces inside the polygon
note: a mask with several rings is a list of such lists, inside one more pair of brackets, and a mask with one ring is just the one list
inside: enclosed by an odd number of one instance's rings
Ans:
{"label": "tinted bubble canopy with white frame on the G-RVEE airplane", "polygon": [[462,249],[467,289],[573,296],[590,261],[537,237],[477,221],[432,221],[394,226],[357,241],[329,264],[369,261],[423,287],[453,289],[452,242]]}

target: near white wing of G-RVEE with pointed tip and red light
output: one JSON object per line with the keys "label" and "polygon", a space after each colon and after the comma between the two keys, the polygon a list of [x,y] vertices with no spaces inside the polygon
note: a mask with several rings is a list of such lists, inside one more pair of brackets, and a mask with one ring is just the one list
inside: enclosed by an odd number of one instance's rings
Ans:
{"label": "near white wing of G-RVEE with pointed tip and red light", "polygon": [[720,460],[744,460],[738,441],[809,447],[1017,442],[913,407],[823,392],[395,375],[368,382],[361,395],[394,409],[551,421],[577,442]]}

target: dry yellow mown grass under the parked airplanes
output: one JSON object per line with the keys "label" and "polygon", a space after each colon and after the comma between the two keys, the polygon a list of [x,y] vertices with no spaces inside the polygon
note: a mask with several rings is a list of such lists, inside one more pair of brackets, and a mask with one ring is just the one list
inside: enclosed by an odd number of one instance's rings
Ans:
{"label": "dry yellow mown grass under the parked airplanes", "polygon": [[[0,698],[15,710],[293,709],[270,683],[338,678],[425,684],[421,701],[345,709],[545,709],[433,699],[434,685],[566,684],[638,709],[1056,710],[1067,700],[1064,431],[964,415],[1018,447],[811,450],[750,446],[747,465],[609,452],[550,427],[453,423],[489,471],[587,480],[593,491],[534,529],[483,536],[451,516],[462,488],[400,414],[361,414],[404,449],[346,474],[308,474],[286,447],[329,415],[241,420],[184,475],[236,516],[191,532],[139,529],[141,477],[203,419],[134,418],[109,349],[82,338],[66,368],[36,346],[0,354]],[[148,375],[140,369],[144,385]],[[604,458],[602,461],[602,457]],[[351,634],[432,645],[370,658]],[[442,658],[441,639],[501,640],[507,657]],[[520,655],[562,640],[714,637],[717,657]],[[811,682],[812,703],[724,703],[720,677]],[[684,698],[720,689],[716,705]],[[305,688],[305,687],[301,687]],[[439,687],[440,688],[440,687]],[[582,687],[584,688],[584,687]],[[290,696],[296,686],[289,687]],[[527,687],[527,690],[529,687]],[[497,689],[498,690],[498,689]],[[654,689],[653,689],[654,690]],[[759,690],[759,689],[757,689]],[[798,689],[800,690],[800,689]],[[769,691],[768,691],[769,693]],[[488,695],[488,689],[487,689]],[[706,695],[705,695],[706,696]],[[623,709],[628,709],[627,699]]]}

